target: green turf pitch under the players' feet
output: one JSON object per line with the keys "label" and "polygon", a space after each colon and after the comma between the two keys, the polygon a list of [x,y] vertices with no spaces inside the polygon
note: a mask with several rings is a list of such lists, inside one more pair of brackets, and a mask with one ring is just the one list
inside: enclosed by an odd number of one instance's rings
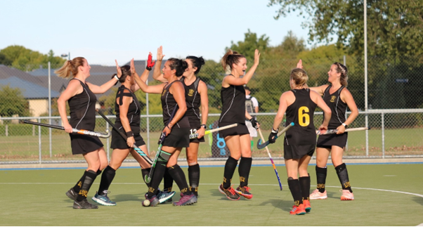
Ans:
{"label": "green turf pitch under the players' feet", "polygon": [[[139,169],[120,169],[110,190],[116,207],[74,210],[65,192],[82,169],[0,171],[1,226],[416,226],[423,223],[423,197],[359,188],[422,194],[423,164],[349,165],[356,200],[340,201],[330,167],[327,200],[312,201],[305,216],[290,216],[288,187],[279,190],[272,167],[253,167],[253,200],[229,201],[217,190],[223,168],[202,168],[200,198],[190,207],[142,207],[145,185]],[[285,167],[278,167],[286,185]],[[315,185],[314,167],[310,167]],[[184,169],[186,171],[186,169]],[[237,174],[234,177],[237,178]],[[91,188],[92,197],[99,179]],[[270,186],[269,186],[270,185]],[[176,186],[175,186],[176,188]],[[312,190],[315,187],[312,187]],[[174,197],[178,200],[179,195]]]}

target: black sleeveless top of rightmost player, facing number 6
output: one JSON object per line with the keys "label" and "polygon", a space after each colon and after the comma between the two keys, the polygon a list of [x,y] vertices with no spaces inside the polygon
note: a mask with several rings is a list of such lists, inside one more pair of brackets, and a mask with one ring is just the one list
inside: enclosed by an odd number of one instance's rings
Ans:
{"label": "black sleeveless top of rightmost player, facing number 6", "polygon": [[323,93],[323,100],[332,110],[332,116],[330,117],[329,126],[327,129],[337,129],[342,123],[346,121],[345,113],[348,105],[341,100],[341,91],[345,86],[341,86],[338,91],[330,94],[331,86],[327,86],[325,93]]}

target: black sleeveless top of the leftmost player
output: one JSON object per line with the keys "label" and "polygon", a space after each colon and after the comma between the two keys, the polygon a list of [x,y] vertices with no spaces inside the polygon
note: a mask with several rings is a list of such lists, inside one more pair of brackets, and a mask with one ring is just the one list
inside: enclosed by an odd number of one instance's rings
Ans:
{"label": "black sleeveless top of the leftmost player", "polygon": [[82,83],[79,79],[77,80],[81,83],[84,91],[67,100],[70,108],[69,124],[74,129],[94,131],[96,128],[97,97],[89,89],[88,85]]}

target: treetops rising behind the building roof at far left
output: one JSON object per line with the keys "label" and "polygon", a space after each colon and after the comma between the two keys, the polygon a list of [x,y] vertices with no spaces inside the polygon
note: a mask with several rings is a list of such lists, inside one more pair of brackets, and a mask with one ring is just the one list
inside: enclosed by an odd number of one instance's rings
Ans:
{"label": "treetops rising behind the building roof at far left", "polygon": [[8,46],[0,50],[0,63],[3,62],[2,64],[4,65],[26,72],[37,69],[40,65],[47,67],[49,61],[53,68],[60,67],[65,63],[65,59],[55,57],[53,51],[49,51],[48,54],[42,54],[24,46]]}

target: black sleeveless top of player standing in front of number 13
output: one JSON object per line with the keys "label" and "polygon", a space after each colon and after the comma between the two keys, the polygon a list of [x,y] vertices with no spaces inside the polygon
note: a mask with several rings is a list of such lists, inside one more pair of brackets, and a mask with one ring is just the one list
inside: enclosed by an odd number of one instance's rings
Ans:
{"label": "black sleeveless top of player standing in front of number 13", "polygon": [[[171,82],[171,84],[167,84],[167,86],[164,86],[163,92],[162,92],[162,108],[163,108],[163,123],[166,126],[169,124],[169,119],[171,117],[171,114],[174,112],[174,108],[176,106],[176,100],[174,98],[174,95],[169,92],[170,87],[175,82],[179,82],[178,80]],[[179,82],[180,83],[180,82]],[[176,110],[177,111],[177,110]],[[188,121],[188,116],[183,115],[181,119],[174,125],[174,127],[178,128],[189,128],[190,122]]]}

